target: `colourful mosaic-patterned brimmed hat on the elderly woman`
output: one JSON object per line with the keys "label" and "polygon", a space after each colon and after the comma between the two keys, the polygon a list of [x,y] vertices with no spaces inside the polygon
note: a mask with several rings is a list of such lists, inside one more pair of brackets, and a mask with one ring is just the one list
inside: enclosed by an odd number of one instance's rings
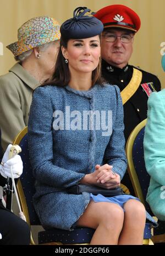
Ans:
{"label": "colourful mosaic-patterned brimmed hat on the elderly woman", "polygon": [[7,48],[18,56],[37,46],[59,40],[59,28],[58,22],[48,16],[32,18],[18,29],[18,41]]}

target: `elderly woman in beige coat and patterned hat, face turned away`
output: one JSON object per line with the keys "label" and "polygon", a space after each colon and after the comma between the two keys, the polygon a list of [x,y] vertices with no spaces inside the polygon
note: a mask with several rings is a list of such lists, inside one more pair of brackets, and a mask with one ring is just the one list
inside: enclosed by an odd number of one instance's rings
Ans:
{"label": "elderly woman in beige coat and patterned hat, face turned away", "polygon": [[53,74],[60,36],[56,20],[36,17],[24,23],[18,41],[7,46],[18,62],[0,77],[3,150],[27,126],[32,92]]}

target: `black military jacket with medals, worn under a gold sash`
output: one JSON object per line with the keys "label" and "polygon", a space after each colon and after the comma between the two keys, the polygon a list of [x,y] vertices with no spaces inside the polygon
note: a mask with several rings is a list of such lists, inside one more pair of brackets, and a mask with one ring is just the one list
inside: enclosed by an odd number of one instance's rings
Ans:
{"label": "black military jacket with medals, worn under a gold sash", "polygon": [[[102,61],[102,75],[103,78],[112,85],[117,85],[120,92],[128,86],[133,76],[133,67],[131,65],[125,66],[123,69],[110,66],[106,61]],[[139,69],[140,70],[140,69]],[[140,70],[142,72],[142,80],[139,83],[138,90],[134,95],[124,104],[124,136],[125,141],[131,131],[145,118],[147,118],[147,100],[153,91],[161,90],[161,83],[157,76]]]}

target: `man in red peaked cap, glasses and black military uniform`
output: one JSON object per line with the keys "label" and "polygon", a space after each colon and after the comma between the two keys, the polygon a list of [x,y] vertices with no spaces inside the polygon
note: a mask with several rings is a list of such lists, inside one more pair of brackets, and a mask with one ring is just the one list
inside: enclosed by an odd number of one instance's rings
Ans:
{"label": "man in red peaked cap, glasses and black military uniform", "polygon": [[[138,14],[127,6],[114,4],[100,9],[95,17],[105,28],[101,43],[102,75],[120,88],[127,142],[131,131],[147,118],[147,100],[153,91],[161,90],[161,83],[155,75],[128,64],[134,35],[141,24]],[[122,183],[133,193],[128,173]]]}

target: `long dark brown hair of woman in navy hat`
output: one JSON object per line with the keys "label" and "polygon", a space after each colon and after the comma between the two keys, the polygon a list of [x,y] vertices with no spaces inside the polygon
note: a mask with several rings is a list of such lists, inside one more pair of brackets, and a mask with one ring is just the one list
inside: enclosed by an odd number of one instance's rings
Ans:
{"label": "long dark brown hair of woman in navy hat", "polygon": [[[101,35],[99,36],[101,40]],[[70,71],[68,64],[65,63],[65,58],[62,54],[61,47],[63,46],[65,49],[67,49],[68,41],[70,39],[63,39],[61,37],[60,39],[60,49],[56,60],[56,65],[54,69],[54,73],[51,77],[51,79],[47,80],[44,85],[56,85],[56,86],[67,86],[70,81]],[[102,85],[103,80],[101,78],[101,57],[98,62],[98,66],[94,71],[92,71],[92,86],[95,84]],[[42,86],[44,86],[42,85]]]}

